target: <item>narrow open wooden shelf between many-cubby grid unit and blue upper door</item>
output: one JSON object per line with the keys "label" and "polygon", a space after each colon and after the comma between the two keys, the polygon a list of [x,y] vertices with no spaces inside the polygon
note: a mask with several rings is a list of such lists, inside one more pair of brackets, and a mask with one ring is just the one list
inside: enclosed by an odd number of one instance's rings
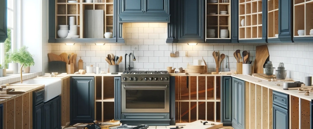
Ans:
{"label": "narrow open wooden shelf between many-cubby grid unit and blue upper door", "polygon": [[[278,1],[268,0],[268,15],[267,15],[267,37],[278,38]],[[277,36],[275,37],[275,34]]]}

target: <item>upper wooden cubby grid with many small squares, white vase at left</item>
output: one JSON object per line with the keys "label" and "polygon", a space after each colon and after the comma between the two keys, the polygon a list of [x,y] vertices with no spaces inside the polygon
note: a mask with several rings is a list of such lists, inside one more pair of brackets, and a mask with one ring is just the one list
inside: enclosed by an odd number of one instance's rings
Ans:
{"label": "upper wooden cubby grid with many small squares, white vase at left", "polygon": [[239,0],[238,36],[239,40],[262,38],[262,0]]}

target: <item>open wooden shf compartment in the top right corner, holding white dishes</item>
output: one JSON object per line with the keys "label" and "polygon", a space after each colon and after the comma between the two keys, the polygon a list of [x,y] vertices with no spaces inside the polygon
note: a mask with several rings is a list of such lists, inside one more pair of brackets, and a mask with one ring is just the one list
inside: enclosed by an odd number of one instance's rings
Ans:
{"label": "open wooden shf compartment in the top right corner, holding white dishes", "polygon": [[[294,0],[293,36],[313,37],[310,30],[313,29],[313,0]],[[304,30],[304,35],[299,36],[298,30]]]}

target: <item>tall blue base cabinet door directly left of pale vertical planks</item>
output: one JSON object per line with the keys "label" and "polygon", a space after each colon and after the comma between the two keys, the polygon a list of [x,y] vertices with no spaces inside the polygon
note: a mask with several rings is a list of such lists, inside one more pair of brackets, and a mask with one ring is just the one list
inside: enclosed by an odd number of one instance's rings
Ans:
{"label": "tall blue base cabinet door directly left of pale vertical planks", "polygon": [[232,127],[234,129],[245,128],[245,85],[244,81],[232,79],[232,97],[233,97],[233,113]]}

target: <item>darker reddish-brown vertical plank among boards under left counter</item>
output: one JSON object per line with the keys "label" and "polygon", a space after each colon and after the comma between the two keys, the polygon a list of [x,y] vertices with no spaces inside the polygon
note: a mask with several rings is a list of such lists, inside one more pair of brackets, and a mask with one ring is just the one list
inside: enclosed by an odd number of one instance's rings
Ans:
{"label": "darker reddish-brown vertical plank among boards under left counter", "polygon": [[23,96],[15,98],[15,128],[23,128]]}

